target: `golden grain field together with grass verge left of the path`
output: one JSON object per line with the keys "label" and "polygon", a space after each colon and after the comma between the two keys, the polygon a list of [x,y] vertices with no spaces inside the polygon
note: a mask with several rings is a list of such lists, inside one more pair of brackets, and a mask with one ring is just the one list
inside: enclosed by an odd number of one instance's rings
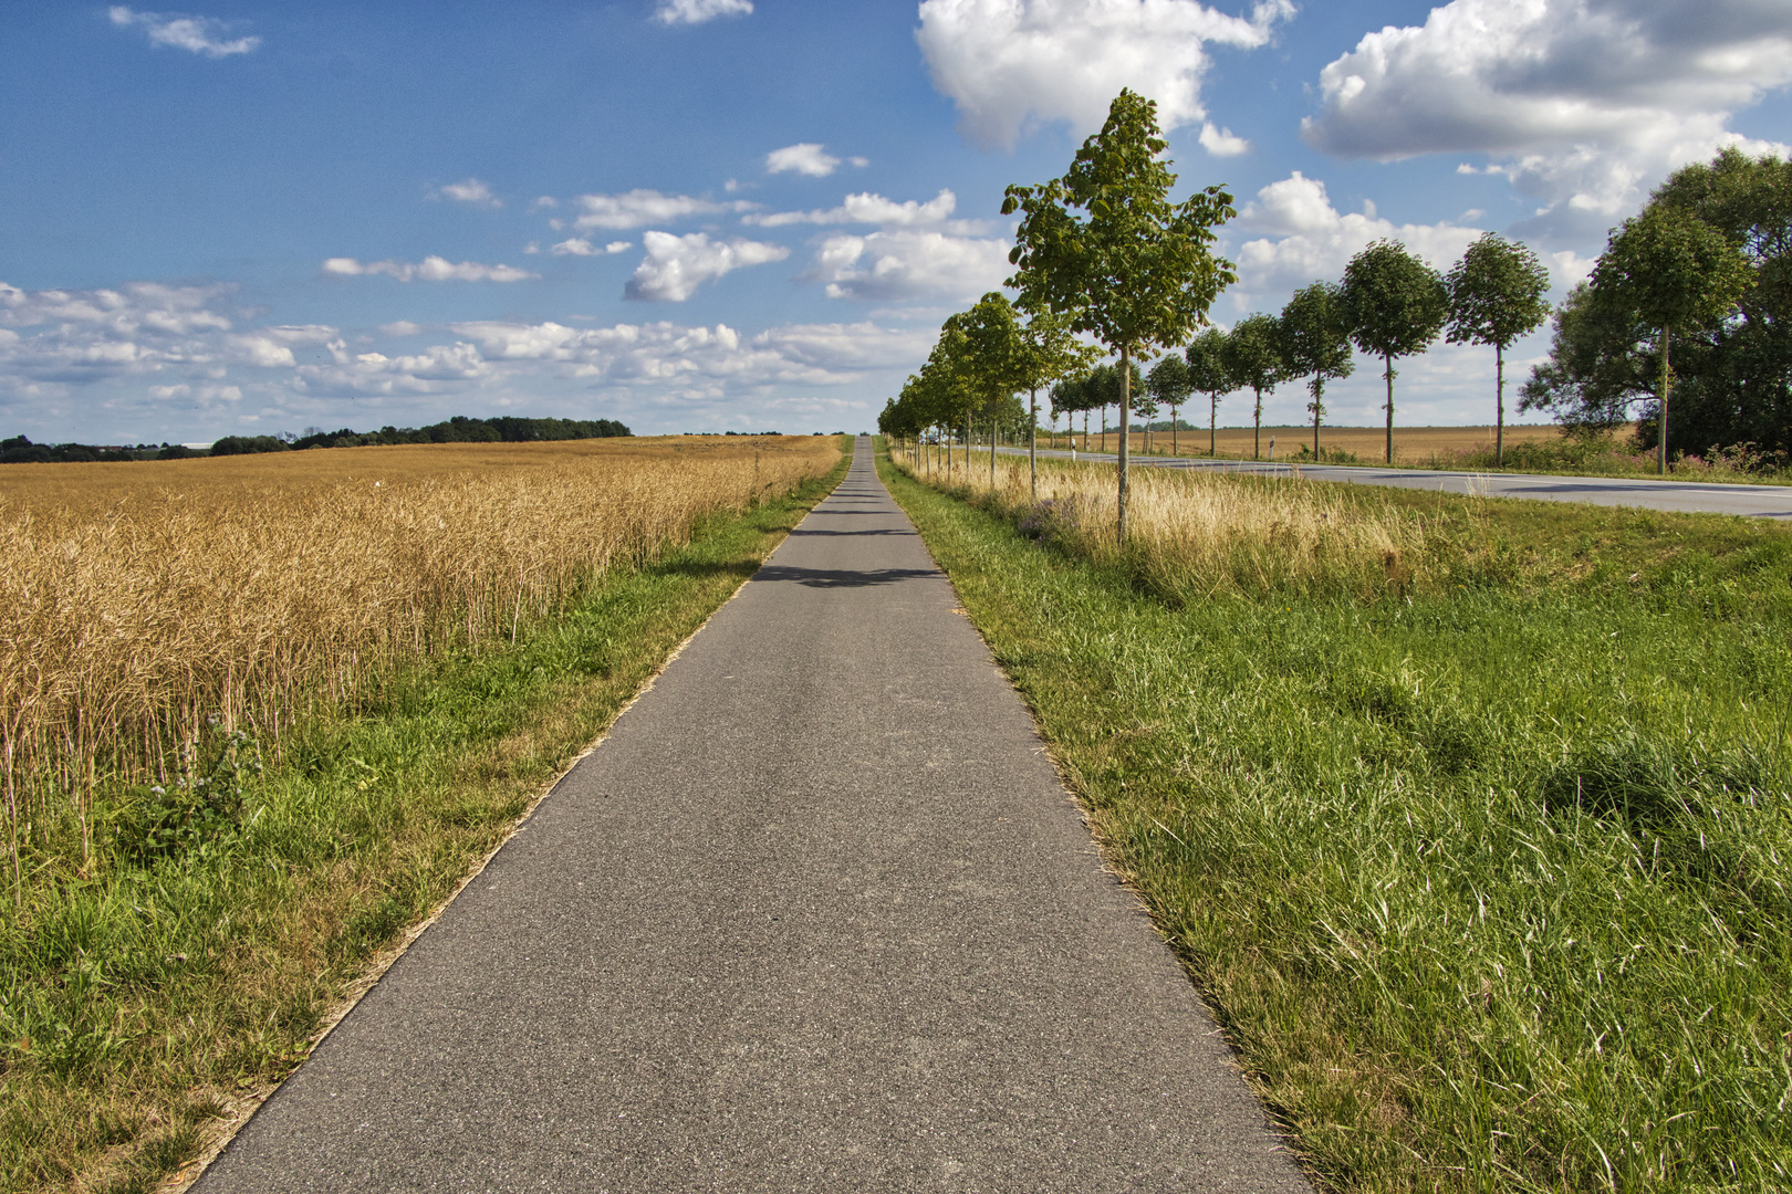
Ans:
{"label": "golden grain field together with grass verge left of the path", "polygon": [[0,1189],[183,1164],[844,467],[602,440],[0,489]]}

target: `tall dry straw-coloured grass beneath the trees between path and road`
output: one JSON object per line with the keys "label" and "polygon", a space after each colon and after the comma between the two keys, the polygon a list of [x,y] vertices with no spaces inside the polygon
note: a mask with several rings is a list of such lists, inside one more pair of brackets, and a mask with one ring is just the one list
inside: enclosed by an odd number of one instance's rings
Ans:
{"label": "tall dry straw-coloured grass beneath the trees between path and road", "polygon": [[1023,456],[998,456],[993,485],[987,455],[973,453],[969,467],[961,456],[950,469],[937,453],[918,456],[898,448],[891,458],[925,483],[1002,510],[1036,539],[1124,562],[1181,600],[1265,593],[1367,598],[1405,589],[1426,571],[1425,523],[1342,485],[1133,469],[1129,541],[1122,546],[1113,465],[1041,464],[1034,501]]}

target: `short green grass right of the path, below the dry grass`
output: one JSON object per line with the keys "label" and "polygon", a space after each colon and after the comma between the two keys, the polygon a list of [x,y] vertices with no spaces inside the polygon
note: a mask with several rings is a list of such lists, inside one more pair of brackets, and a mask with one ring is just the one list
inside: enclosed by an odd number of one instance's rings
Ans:
{"label": "short green grass right of the path, below the dry grass", "polygon": [[880,467],[1324,1183],[1792,1185],[1785,528],[1426,496],[1512,566],[1201,598]]}

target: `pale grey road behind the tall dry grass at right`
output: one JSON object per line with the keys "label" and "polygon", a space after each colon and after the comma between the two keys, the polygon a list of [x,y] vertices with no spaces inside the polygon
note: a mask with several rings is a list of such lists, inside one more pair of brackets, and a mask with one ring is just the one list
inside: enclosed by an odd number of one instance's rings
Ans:
{"label": "pale grey road behind the tall dry grass at right", "polygon": [[[1118,437],[1116,437],[1118,439]],[[973,453],[978,449],[971,449]],[[987,448],[982,451],[987,453]],[[1025,448],[1004,453],[1027,455]],[[1068,451],[1039,451],[1041,456],[1068,460]],[[1077,453],[1077,460],[1113,464],[1115,456]],[[984,456],[989,464],[989,456]],[[1195,456],[1133,456],[1133,464],[1163,469],[1219,469],[1263,476],[1306,476],[1315,482],[1351,482],[1357,485],[1398,485],[1401,489],[1441,489],[1452,494],[1478,492],[1489,498],[1539,498],[1545,501],[1590,501],[1600,507],[1647,507],[1650,510],[1688,510],[1710,514],[1747,514],[1792,519],[1788,485],[1720,485],[1708,482],[1650,482],[1609,476],[1530,476],[1516,473],[1434,473],[1430,469],[1376,469],[1337,464],[1265,464],[1253,460],[1206,460]]]}

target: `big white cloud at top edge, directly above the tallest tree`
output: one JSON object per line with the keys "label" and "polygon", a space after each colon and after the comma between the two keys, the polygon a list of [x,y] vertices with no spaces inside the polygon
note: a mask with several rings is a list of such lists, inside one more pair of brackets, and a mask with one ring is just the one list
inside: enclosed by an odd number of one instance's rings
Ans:
{"label": "big white cloud at top edge, directly above the tallest tree", "polygon": [[1158,100],[1165,129],[1202,120],[1204,47],[1260,47],[1292,14],[1290,0],[1249,18],[1197,0],[925,0],[916,41],[964,134],[1012,149],[1036,124],[1100,129],[1120,88]]}

